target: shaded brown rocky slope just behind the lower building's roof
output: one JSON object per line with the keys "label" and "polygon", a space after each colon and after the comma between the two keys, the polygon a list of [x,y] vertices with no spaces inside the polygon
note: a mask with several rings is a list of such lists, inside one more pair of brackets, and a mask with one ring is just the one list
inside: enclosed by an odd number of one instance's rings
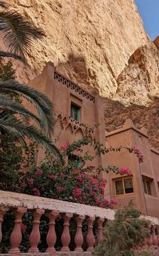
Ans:
{"label": "shaded brown rocky slope just behind the lower building's roof", "polygon": [[122,127],[127,119],[131,119],[138,129],[145,127],[151,146],[159,150],[159,98],[155,98],[148,107],[135,104],[125,107],[120,102],[105,98],[104,117],[106,131]]}

